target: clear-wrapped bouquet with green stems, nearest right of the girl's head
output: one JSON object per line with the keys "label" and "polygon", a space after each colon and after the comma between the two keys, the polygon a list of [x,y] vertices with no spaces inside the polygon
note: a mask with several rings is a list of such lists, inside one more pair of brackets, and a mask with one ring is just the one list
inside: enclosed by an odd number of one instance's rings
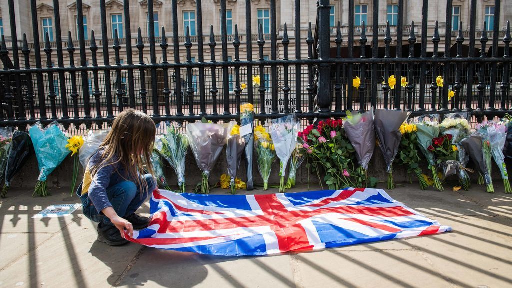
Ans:
{"label": "clear-wrapped bouquet with green stems, nearest right of the girl's head", "polygon": [[[197,124],[194,124],[197,125]],[[196,133],[201,133],[203,130],[197,130],[198,128],[193,127]],[[204,129],[201,127],[200,129]],[[189,134],[190,135],[190,134]],[[206,136],[206,135],[205,135]],[[180,133],[173,126],[167,125],[167,134],[165,134],[162,138],[162,147],[157,146],[157,150],[162,155],[162,157],[169,162],[170,167],[174,169],[176,172],[176,176],[178,176],[178,191],[181,193],[185,193],[186,184],[185,184],[185,157],[187,156],[188,146],[190,143],[189,136]],[[197,147],[196,147],[197,148]],[[212,148],[211,145],[206,145],[205,148]],[[206,153],[206,151],[204,151]],[[219,152],[220,153],[220,152]],[[194,155],[196,153],[194,152]],[[205,156],[205,155],[202,155]],[[196,156],[197,157],[197,156]],[[206,156],[205,156],[206,157]],[[219,156],[217,156],[219,157]],[[197,158],[196,158],[197,160]],[[217,161],[217,159],[215,159]],[[198,161],[199,164],[199,161]],[[213,163],[215,165],[215,162]],[[201,167],[200,167],[201,168]],[[208,170],[209,173],[210,170]]]}

